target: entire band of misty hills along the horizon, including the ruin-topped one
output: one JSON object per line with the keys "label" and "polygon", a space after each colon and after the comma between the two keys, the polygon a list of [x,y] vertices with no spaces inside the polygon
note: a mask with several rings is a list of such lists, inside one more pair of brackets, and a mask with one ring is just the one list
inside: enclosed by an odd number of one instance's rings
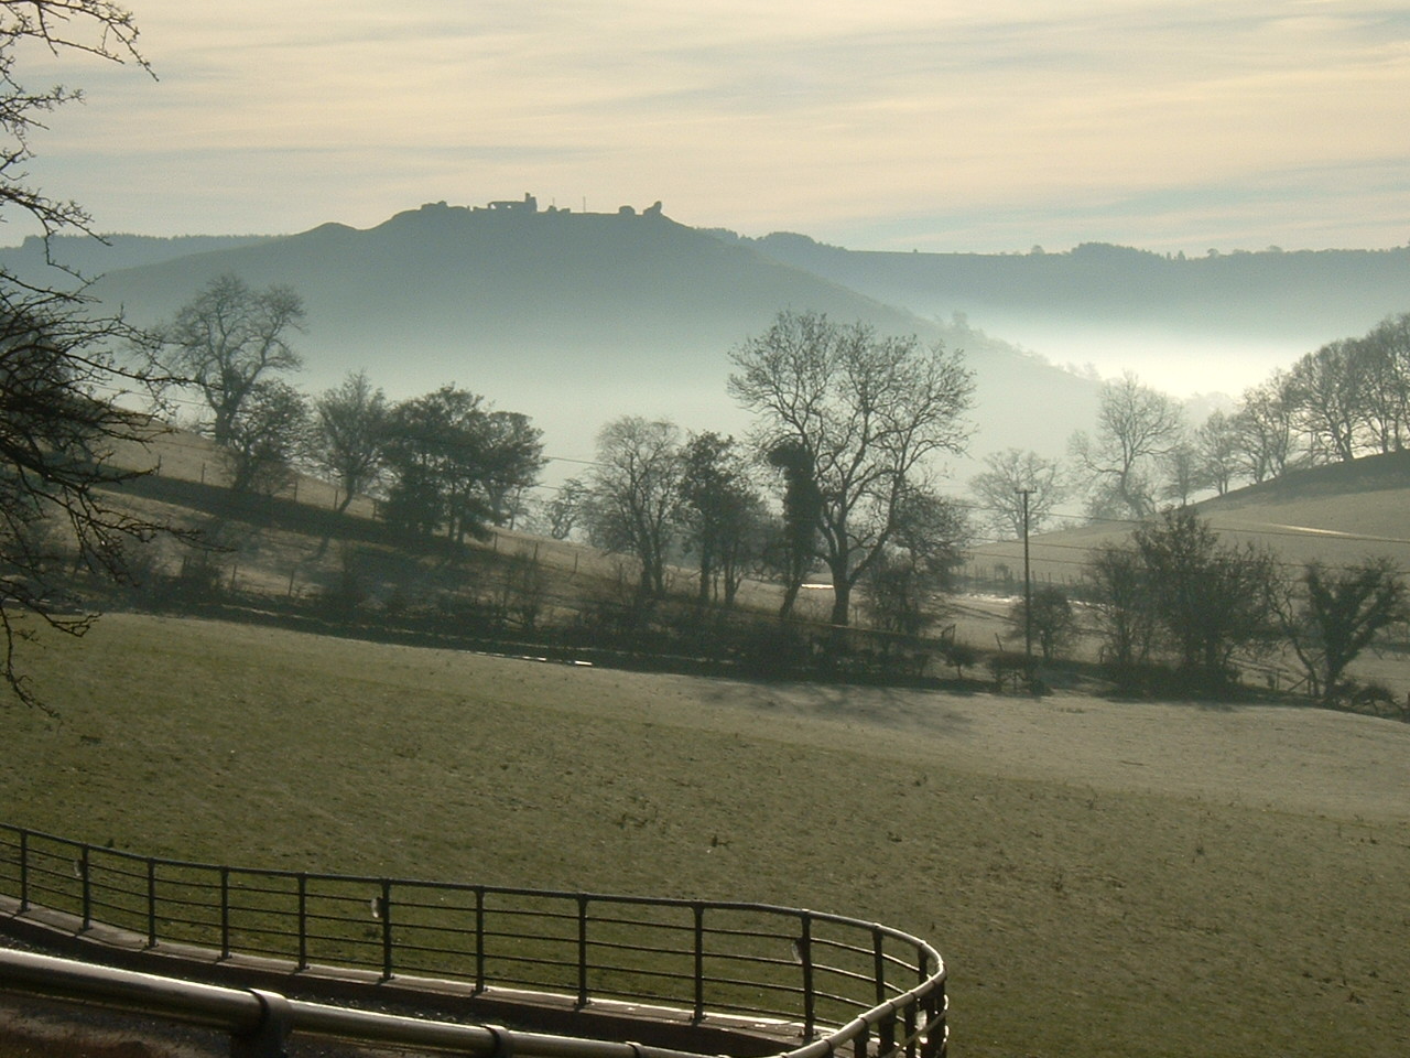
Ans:
{"label": "entire band of misty hills along the horizon, including the ruin-topped one", "polygon": [[[28,240],[0,250],[0,265],[42,268],[42,251]],[[1184,260],[1086,244],[1056,254],[884,254],[805,236],[697,230],[657,209],[441,202],[368,230],[114,236],[107,247],[58,240],[54,251],[87,274],[106,268],[94,292],[145,323],[169,317],[221,272],[255,286],[290,284],[309,309],[299,341],[306,389],[357,368],[393,398],[455,382],[533,416],[550,454],[570,458],[591,456],[598,427],[623,413],[747,429],[725,391],[728,353],[780,309],[862,319],[964,350],[977,377],[976,456],[1011,446],[1059,454],[1094,420],[1094,378],[1014,341],[1076,363],[1117,341],[1121,363],[1129,353],[1138,371],[1141,355],[1176,357],[1201,388],[1237,392],[1224,370],[1232,357],[1256,348],[1290,364],[1410,309],[1410,250]],[[1208,370],[1197,363],[1201,343]]]}

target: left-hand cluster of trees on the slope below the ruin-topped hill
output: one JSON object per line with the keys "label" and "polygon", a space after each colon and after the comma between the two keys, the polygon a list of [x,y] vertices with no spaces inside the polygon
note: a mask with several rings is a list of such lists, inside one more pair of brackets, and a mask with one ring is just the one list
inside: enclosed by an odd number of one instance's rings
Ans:
{"label": "left-hand cluster of trees on the slope below the ruin-topped hill", "polygon": [[310,467],[337,485],[338,509],[376,494],[391,523],[455,542],[523,512],[544,466],[527,416],[454,385],[392,403],[365,372],[310,401],[288,381],[303,319],[292,288],[223,275],[144,337],[155,370],[199,395],[233,490],[272,494]]}

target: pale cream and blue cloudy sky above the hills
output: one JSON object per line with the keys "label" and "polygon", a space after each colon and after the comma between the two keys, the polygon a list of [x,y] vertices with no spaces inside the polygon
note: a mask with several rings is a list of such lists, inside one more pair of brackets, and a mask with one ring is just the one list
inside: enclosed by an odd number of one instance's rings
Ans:
{"label": "pale cream and blue cloudy sky above the hills", "polygon": [[31,166],[102,230],[532,190],[853,248],[1410,241],[1404,0],[128,4],[159,80],[66,58]]}

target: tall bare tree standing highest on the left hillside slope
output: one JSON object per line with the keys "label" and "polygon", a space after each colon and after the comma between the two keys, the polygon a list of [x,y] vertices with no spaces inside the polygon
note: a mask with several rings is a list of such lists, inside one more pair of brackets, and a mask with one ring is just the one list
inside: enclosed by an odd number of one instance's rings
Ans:
{"label": "tall bare tree standing highest on the left hillside slope", "polygon": [[214,416],[210,434],[216,444],[226,444],[255,385],[302,365],[290,344],[302,326],[303,302],[292,288],[252,291],[226,274],[154,333],[152,357],[200,392]]}

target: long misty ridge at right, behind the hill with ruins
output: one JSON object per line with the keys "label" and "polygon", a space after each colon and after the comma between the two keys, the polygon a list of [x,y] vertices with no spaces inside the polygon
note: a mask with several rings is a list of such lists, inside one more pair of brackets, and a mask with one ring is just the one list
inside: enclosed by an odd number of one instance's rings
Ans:
{"label": "long misty ridge at right, behind the hill with ruins", "polygon": [[1237,396],[1303,353],[1410,310],[1410,248],[1184,258],[1103,243],[1067,253],[897,254],[794,234],[744,241],[921,316],[963,313],[1049,360],[1132,370],[1182,394]]}

